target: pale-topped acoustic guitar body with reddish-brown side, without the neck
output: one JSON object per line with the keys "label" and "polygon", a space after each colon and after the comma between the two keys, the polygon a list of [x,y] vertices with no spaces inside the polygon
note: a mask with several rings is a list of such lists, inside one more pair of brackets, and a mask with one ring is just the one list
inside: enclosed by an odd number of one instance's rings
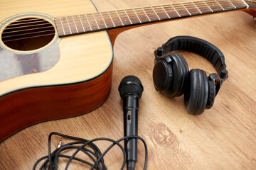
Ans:
{"label": "pale-topped acoustic guitar body with reddish-brown side, without the neck", "polygon": [[[111,89],[113,59],[107,32],[58,38],[50,18],[95,12],[91,1],[1,4],[0,141],[29,125],[87,113],[104,103]],[[52,24],[51,35],[21,38],[17,45],[3,42],[11,23],[38,19]]]}

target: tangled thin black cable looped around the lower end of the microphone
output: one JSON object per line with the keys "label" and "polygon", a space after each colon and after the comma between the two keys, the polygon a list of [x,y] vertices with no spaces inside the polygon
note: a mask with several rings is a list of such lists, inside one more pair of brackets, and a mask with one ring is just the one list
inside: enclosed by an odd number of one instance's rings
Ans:
{"label": "tangled thin black cable looped around the lower end of the microphone", "polygon": [[[76,142],[70,142],[68,144],[61,145],[62,141],[60,140],[58,147],[53,152],[51,152],[50,145],[51,145],[51,137],[53,135],[58,135],[60,137],[65,137],[67,139],[76,140]],[[129,140],[129,139],[133,139],[133,138],[141,140],[144,144],[144,149],[145,149],[144,170],[146,170],[146,164],[147,164],[147,159],[148,159],[148,150],[147,150],[146,142],[144,141],[144,139],[142,137],[127,136],[127,137],[122,137],[119,140],[112,140],[110,138],[99,137],[99,138],[95,138],[93,140],[85,140],[80,137],[63,135],[58,132],[50,133],[50,135],[48,137],[48,155],[38,159],[38,161],[36,161],[36,163],[33,166],[33,170],[35,170],[36,167],[38,166],[38,164],[41,162],[43,162],[43,164],[40,166],[40,168],[39,168],[40,170],[46,170],[46,169],[57,170],[58,169],[58,158],[60,158],[60,157],[69,159],[68,163],[65,166],[65,169],[68,169],[68,166],[70,165],[70,163],[73,160],[75,160],[77,162],[81,162],[82,164],[87,164],[87,165],[91,166],[90,169],[106,170],[107,166],[105,165],[103,157],[105,156],[105,154],[107,154],[108,151],[110,151],[110,149],[112,147],[114,147],[114,145],[117,145],[123,152],[124,161],[122,163],[121,169],[124,169],[124,166],[127,162],[127,153],[125,152],[124,147],[122,147],[122,145],[119,144],[119,142],[121,142],[122,140]],[[100,140],[112,142],[112,145],[110,145],[110,147],[107,147],[107,149],[105,149],[105,151],[103,153],[100,151],[100,149],[97,147],[97,145],[95,145],[93,143],[95,141],[100,141]],[[85,148],[85,147],[87,147],[87,148]],[[88,149],[88,147],[90,147],[90,149]],[[65,152],[68,149],[76,149],[76,150],[72,156],[61,154],[61,152]],[[75,155],[78,154],[78,152],[83,152],[84,154],[87,154],[87,156],[92,160],[92,162],[94,164],[87,162],[83,159],[80,159],[78,157],[75,157]]]}

